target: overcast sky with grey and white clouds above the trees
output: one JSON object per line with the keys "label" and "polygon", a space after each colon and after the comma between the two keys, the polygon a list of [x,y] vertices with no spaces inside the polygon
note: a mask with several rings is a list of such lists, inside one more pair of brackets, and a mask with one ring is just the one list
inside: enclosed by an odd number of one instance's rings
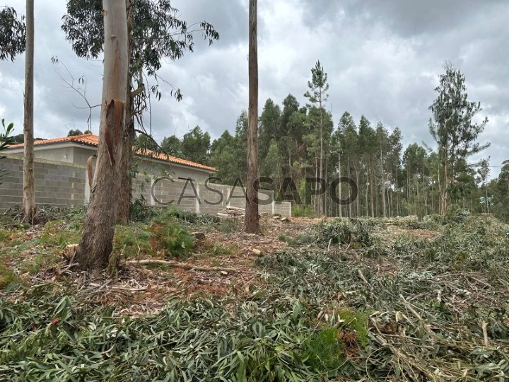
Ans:
{"label": "overcast sky with grey and white clouds above the trees", "polygon": [[[25,1],[5,0],[24,14]],[[175,0],[189,23],[209,21],[221,39],[209,47],[163,65],[160,75],[180,88],[177,103],[170,87],[153,103],[153,135],[182,137],[196,125],[213,138],[233,131],[247,109],[248,0]],[[467,78],[470,100],[480,101],[479,117],[490,122],[482,135],[491,148],[492,173],[509,158],[509,1],[507,0],[259,0],[259,103],[281,104],[292,93],[304,103],[310,69],[320,59],[329,75],[329,105],[337,124],[348,110],[387,127],[402,129],[404,144],[431,143],[429,105],[438,74],[447,60]],[[2,4],[4,5],[4,4]],[[87,98],[100,103],[101,62],[78,59],[60,29],[65,1],[35,2],[35,135],[62,137],[87,129],[88,111],[66,87],[62,65],[74,77],[86,76]],[[23,128],[24,56],[0,62],[0,117]],[[98,132],[93,113],[93,132]]]}

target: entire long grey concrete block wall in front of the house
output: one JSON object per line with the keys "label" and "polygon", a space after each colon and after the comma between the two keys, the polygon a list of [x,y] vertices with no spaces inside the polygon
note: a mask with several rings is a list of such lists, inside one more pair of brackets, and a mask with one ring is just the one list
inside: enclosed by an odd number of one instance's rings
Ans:
{"label": "entire long grey concrete block wall in front of the house", "polygon": [[[9,155],[0,160],[0,168],[7,170],[0,185],[0,212],[23,203],[23,158]],[[73,206],[88,202],[88,175],[86,166],[45,159],[35,159],[35,202],[42,205]],[[147,204],[173,204],[185,211],[216,214],[218,209],[245,208],[245,193],[240,186],[205,184],[151,175],[139,175],[133,180],[133,197],[141,196]],[[232,193],[233,192],[233,193]],[[274,202],[274,192],[259,192],[259,212],[291,216],[291,203]],[[171,202],[171,203],[170,203]]]}

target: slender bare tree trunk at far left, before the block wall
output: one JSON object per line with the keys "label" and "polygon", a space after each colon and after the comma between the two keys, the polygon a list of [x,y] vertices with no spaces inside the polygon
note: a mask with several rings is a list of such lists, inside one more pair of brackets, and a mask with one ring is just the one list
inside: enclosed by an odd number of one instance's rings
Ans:
{"label": "slender bare tree trunk at far left, before the block wall", "polygon": [[34,0],[26,1],[25,97],[23,134],[23,221],[32,223],[35,207],[33,151],[33,67],[34,67]]}

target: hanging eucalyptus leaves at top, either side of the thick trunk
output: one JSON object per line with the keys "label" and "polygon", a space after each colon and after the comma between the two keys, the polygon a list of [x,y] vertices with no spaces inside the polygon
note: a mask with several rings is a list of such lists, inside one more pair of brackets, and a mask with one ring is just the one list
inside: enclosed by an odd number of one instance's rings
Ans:
{"label": "hanging eucalyptus leaves at top, either side of the thick trunk", "polygon": [[[219,39],[219,33],[206,21],[188,28],[191,25],[178,18],[179,11],[171,6],[169,0],[137,0],[129,11],[133,42],[129,72],[137,83],[136,87],[145,83],[144,72],[152,76],[155,84],[148,90],[157,99],[162,96],[157,72],[164,60],[175,61],[185,52],[193,52],[195,33],[201,33],[209,45]],[[68,0],[67,14],[62,21],[62,30],[78,57],[100,57],[104,45],[103,6],[100,1]],[[182,99],[179,88],[172,87],[170,94],[177,100]],[[137,96],[140,103],[146,102],[146,97],[146,92]]]}

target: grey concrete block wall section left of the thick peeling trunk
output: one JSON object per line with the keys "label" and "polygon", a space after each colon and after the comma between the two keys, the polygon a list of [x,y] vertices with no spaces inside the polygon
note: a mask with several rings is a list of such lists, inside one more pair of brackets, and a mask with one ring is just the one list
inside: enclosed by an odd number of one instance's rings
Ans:
{"label": "grey concrete block wall section left of the thick peeling trunk", "polygon": [[[23,158],[1,159],[6,176],[0,185],[0,212],[23,204]],[[85,202],[86,168],[72,163],[34,161],[35,203],[40,206],[74,206]]]}

